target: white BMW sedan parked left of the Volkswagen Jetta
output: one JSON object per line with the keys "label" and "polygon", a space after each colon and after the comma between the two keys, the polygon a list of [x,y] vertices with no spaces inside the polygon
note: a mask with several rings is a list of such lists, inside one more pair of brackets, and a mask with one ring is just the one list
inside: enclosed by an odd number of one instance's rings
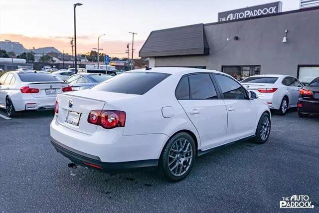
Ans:
{"label": "white BMW sedan parked left of the Volkswagen Jetta", "polygon": [[56,94],[68,91],[72,88],[51,73],[11,71],[0,78],[0,108],[10,117],[23,110],[54,109]]}

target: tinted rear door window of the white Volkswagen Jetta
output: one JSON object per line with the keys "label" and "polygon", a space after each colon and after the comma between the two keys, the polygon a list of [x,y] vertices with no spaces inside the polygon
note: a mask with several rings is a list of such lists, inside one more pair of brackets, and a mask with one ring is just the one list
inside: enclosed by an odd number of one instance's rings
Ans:
{"label": "tinted rear door window of the white Volkswagen Jetta", "polygon": [[217,99],[217,93],[209,74],[189,75],[190,99]]}

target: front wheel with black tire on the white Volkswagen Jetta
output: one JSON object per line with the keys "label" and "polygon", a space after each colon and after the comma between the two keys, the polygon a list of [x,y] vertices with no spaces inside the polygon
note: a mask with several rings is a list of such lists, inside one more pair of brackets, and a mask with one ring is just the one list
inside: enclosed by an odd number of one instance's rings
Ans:
{"label": "front wheel with black tire on the white Volkswagen Jetta", "polygon": [[[268,125],[268,122],[269,122],[269,125]],[[271,129],[270,115],[267,112],[264,112],[259,119],[254,142],[257,144],[265,143],[269,138],[270,129]]]}

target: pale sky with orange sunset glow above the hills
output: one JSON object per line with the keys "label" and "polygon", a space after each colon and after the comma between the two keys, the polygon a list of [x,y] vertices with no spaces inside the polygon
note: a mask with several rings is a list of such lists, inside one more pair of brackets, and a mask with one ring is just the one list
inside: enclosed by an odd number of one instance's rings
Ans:
{"label": "pale sky with orange sunset glow above the hills", "polygon": [[[137,32],[135,56],[152,30],[217,21],[217,13],[276,0],[0,0],[0,40],[25,48],[54,46],[71,53],[73,4],[77,12],[77,49],[126,56],[129,31]],[[283,11],[299,8],[299,0],[282,0]]]}

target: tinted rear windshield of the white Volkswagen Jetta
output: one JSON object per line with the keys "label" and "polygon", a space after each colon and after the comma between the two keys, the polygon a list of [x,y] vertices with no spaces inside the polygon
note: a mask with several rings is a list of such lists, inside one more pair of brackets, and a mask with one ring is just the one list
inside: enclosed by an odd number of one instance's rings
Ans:
{"label": "tinted rear windshield of the white Volkswagen Jetta", "polygon": [[143,95],[170,74],[157,72],[126,72],[98,84],[92,89],[126,94]]}

